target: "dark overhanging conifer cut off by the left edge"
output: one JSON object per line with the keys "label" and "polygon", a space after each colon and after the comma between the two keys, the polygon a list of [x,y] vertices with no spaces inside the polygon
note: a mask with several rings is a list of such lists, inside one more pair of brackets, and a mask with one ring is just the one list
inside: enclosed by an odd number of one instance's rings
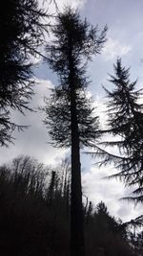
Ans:
{"label": "dark overhanging conifer cut off by the left edge", "polygon": [[8,146],[14,128],[11,109],[31,110],[33,94],[32,61],[37,47],[44,43],[48,14],[37,0],[6,0],[0,9],[0,145]]}

